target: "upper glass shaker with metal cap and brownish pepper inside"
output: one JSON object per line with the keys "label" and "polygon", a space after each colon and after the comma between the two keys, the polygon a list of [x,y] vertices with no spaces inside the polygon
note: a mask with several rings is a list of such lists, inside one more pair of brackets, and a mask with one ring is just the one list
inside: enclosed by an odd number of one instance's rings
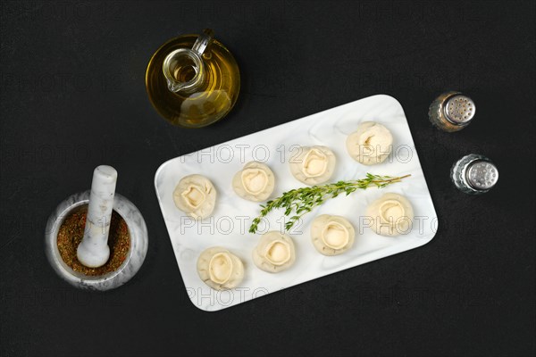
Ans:
{"label": "upper glass shaker with metal cap and brownish pepper inside", "polygon": [[470,97],[450,91],[438,96],[431,103],[428,118],[436,128],[454,132],[469,125],[475,112],[476,107]]}

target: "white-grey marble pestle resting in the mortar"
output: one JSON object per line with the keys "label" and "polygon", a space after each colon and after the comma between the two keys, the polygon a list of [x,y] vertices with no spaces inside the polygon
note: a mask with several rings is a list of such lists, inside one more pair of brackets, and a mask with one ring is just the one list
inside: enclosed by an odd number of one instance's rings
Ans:
{"label": "white-grey marble pestle resting in the mortar", "polygon": [[97,166],[93,171],[86,229],[77,250],[79,261],[89,268],[105,265],[110,257],[108,234],[116,182],[117,171],[112,166]]}

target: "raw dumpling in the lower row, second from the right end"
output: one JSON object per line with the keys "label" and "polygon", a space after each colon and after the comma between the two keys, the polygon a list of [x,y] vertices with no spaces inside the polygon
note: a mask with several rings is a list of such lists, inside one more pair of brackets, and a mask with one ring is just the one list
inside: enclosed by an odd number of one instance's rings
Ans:
{"label": "raw dumpling in the lower row, second from the right end", "polygon": [[322,214],[311,225],[314,248],[324,255],[345,253],[354,245],[355,237],[354,227],[344,217]]}

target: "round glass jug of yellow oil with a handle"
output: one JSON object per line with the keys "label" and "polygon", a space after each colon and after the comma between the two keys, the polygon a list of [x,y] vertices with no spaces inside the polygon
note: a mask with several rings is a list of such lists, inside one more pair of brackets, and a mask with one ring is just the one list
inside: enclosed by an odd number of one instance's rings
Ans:
{"label": "round glass jug of yellow oil with a handle", "polygon": [[164,119],[201,128],[222,119],[236,103],[239,66],[214,32],[172,38],[147,65],[147,95]]}

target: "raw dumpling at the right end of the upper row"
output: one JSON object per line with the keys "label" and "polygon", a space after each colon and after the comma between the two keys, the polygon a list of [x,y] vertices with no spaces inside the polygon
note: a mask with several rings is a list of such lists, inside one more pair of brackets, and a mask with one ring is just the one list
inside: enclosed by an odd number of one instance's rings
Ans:
{"label": "raw dumpling at the right end of the upper row", "polygon": [[364,165],[384,162],[392,145],[393,136],[389,129],[374,121],[362,122],[347,138],[348,154]]}

